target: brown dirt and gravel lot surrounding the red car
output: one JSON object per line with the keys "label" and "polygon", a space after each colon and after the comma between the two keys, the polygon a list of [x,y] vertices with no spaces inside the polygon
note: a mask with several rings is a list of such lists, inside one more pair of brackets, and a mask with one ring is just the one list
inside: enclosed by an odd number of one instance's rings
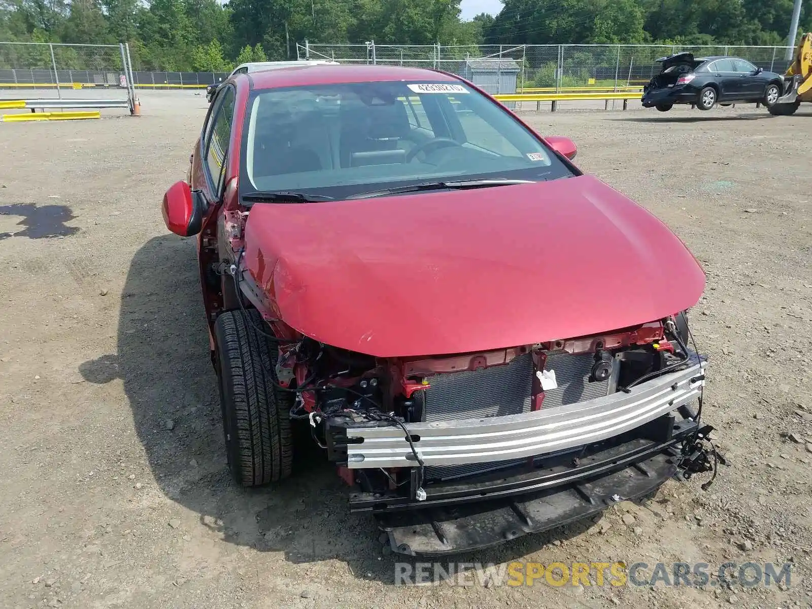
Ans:
{"label": "brown dirt and gravel lot surrounding the red car", "polygon": [[731,466],[707,492],[669,482],[632,524],[612,510],[461,559],[795,564],[788,590],[652,590],[395,586],[322,461],[236,488],[192,243],[158,208],[205,99],[141,101],[140,119],[0,125],[0,607],[810,606],[812,109],[529,118],[705,267],[693,326]]}

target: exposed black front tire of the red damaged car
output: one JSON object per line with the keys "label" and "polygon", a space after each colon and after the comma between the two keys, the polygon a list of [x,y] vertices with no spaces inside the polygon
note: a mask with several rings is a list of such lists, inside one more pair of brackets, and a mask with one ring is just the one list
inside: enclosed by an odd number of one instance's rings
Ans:
{"label": "exposed black front tire of the red damaged car", "polygon": [[228,467],[243,486],[282,480],[293,462],[294,394],[274,386],[279,352],[257,331],[263,326],[256,309],[227,311],[214,323]]}

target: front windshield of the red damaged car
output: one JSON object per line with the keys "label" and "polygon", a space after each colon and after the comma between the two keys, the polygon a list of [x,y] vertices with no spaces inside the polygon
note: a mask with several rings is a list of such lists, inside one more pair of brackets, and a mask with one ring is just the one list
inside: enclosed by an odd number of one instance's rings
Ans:
{"label": "front windshield of the red damaged car", "polygon": [[572,175],[511,114],[464,84],[367,82],[257,91],[240,192],[344,198],[461,179]]}

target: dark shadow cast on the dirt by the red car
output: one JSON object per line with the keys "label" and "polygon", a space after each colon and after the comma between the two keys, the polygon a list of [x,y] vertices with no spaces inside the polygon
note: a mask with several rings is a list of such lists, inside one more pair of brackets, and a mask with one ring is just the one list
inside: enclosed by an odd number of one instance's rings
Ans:
{"label": "dark shadow cast on the dirt by the red car", "polygon": [[[278,485],[246,490],[232,482],[192,240],[167,235],[140,248],[123,289],[118,353],[84,362],[80,372],[94,383],[123,380],[158,486],[224,541],[283,551],[296,564],[339,559],[356,577],[394,581],[393,564],[402,558],[379,559],[374,520],[348,512],[343,483],[317,449],[300,451],[293,476]],[[453,559],[503,562],[550,539],[529,536]]]}

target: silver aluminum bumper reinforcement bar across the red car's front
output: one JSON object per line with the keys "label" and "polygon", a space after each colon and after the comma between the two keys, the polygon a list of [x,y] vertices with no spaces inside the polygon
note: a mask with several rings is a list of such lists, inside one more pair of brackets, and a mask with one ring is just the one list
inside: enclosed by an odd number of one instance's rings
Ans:
{"label": "silver aluminum bumper reinforcement bar across the red car's front", "polygon": [[[663,374],[628,391],[594,400],[510,415],[407,423],[425,465],[484,463],[540,455],[612,438],[695,400],[705,362],[693,355],[686,369]],[[415,467],[400,427],[348,425],[350,469]]]}

